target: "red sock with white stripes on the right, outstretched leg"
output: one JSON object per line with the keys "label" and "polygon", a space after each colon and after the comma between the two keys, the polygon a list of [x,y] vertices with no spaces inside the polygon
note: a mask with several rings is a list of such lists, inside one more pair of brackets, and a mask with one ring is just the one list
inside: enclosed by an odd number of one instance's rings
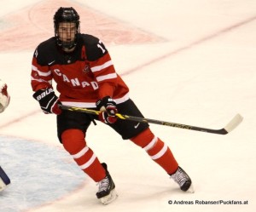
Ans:
{"label": "red sock with white stripes on the right, outstretched leg", "polygon": [[165,169],[168,174],[177,170],[178,164],[170,148],[162,140],[155,137],[150,129],[146,129],[136,137],[131,138],[131,141],[148,152],[150,158]]}

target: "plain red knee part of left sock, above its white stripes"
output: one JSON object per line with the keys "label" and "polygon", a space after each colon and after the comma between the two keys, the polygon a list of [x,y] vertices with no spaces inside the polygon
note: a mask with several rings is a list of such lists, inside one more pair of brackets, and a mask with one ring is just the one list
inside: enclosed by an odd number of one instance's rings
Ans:
{"label": "plain red knee part of left sock, above its white stripes", "polygon": [[84,136],[80,129],[67,129],[61,134],[62,144],[71,155],[76,154],[86,146]]}

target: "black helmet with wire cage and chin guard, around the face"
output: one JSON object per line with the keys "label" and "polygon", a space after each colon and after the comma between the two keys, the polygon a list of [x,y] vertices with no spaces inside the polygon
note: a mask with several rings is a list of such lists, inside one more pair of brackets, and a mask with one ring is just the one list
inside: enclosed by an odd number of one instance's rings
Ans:
{"label": "black helmet with wire cage and chin guard, around the face", "polygon": [[[73,8],[60,8],[54,15],[55,38],[56,42],[63,49],[73,49],[77,45],[78,33],[80,32],[79,14]],[[58,28],[61,22],[71,22],[76,24],[75,39],[71,42],[62,42],[58,35]]]}

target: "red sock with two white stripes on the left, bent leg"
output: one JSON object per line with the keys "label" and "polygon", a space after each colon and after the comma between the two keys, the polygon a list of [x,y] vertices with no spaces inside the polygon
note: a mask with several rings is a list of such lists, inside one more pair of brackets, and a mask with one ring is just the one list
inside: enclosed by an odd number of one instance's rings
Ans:
{"label": "red sock with two white stripes on the left, bent leg", "polygon": [[71,154],[80,169],[82,169],[92,180],[96,182],[106,176],[95,153],[86,146],[84,133],[79,129],[67,129],[61,135],[64,148]]}

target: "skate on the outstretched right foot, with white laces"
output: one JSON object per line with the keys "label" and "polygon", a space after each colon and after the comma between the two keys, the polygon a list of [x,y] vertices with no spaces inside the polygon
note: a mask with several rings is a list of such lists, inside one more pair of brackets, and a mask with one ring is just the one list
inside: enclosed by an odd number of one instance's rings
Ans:
{"label": "skate on the outstretched right foot, with white laces", "polygon": [[177,171],[170,175],[171,178],[177,182],[178,186],[183,192],[192,192],[194,193],[194,188],[192,186],[192,181],[189,178],[189,175],[181,168],[178,167]]}

